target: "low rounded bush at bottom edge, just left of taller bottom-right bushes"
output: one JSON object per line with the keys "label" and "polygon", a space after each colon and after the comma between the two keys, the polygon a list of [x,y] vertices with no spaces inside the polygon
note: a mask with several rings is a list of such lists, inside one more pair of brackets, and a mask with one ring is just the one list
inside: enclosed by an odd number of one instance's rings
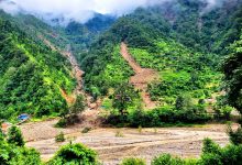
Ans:
{"label": "low rounded bush at bottom edge, just left of taller bottom-right bushes", "polygon": [[152,161],[152,165],[184,165],[185,162],[178,157],[173,157],[170,154],[163,154]]}

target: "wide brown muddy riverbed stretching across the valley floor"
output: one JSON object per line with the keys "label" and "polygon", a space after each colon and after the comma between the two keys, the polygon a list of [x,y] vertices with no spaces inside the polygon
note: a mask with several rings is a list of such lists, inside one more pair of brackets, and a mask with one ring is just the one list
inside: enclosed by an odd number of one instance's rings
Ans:
{"label": "wide brown muddy riverbed stretching across the valley floor", "polygon": [[[202,140],[210,138],[221,146],[229,143],[226,134],[226,125],[209,124],[202,128],[165,128],[143,129],[94,129],[82,134],[86,125],[75,125],[69,129],[55,129],[54,122],[29,123],[21,125],[26,145],[41,152],[43,160],[47,161],[65,143],[55,143],[54,136],[63,131],[67,139],[85,145],[98,152],[99,160],[105,165],[117,165],[122,158],[129,156],[142,157],[150,164],[151,160],[161,153],[170,153],[182,157],[198,157],[201,151]],[[42,125],[42,127],[41,127]],[[37,134],[33,132],[38,130]],[[35,130],[35,131],[34,131]],[[121,132],[123,138],[117,136]]]}

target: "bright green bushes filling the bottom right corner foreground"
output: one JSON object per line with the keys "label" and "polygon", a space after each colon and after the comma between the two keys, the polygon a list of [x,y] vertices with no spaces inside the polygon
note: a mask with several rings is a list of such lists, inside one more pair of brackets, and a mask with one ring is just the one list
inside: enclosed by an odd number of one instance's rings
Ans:
{"label": "bright green bushes filling the bottom right corner foreground", "polygon": [[[152,165],[240,165],[242,158],[242,146],[228,145],[220,147],[209,139],[204,140],[202,154],[197,160],[183,160],[170,154],[162,154],[154,157]],[[134,161],[133,161],[134,160]],[[133,162],[132,162],[133,161]],[[135,158],[131,158],[128,165],[135,165]]]}

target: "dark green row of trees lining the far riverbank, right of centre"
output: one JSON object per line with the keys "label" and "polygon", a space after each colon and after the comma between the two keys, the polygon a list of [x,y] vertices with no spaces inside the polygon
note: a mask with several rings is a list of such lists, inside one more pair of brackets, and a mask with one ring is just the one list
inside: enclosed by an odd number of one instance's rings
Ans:
{"label": "dark green row of trees lining the far riverbank, right of centre", "polygon": [[186,110],[176,110],[173,107],[162,107],[152,111],[134,110],[127,116],[111,113],[106,122],[114,125],[125,124],[132,128],[148,128],[205,123],[211,119],[211,116],[197,107],[190,107]]}

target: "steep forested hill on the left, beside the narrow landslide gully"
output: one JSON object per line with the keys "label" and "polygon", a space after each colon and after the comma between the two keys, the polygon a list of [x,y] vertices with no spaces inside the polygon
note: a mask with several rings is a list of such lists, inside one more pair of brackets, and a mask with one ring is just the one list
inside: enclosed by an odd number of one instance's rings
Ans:
{"label": "steep forested hill on the left, beside the narrow landslide gully", "polygon": [[67,109],[61,90],[76,86],[68,61],[26,33],[0,18],[0,119],[58,114]]}

